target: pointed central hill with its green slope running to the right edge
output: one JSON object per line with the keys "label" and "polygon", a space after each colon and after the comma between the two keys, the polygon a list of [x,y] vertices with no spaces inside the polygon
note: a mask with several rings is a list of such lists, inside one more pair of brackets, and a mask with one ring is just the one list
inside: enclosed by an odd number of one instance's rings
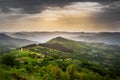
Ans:
{"label": "pointed central hill with its green slope running to the right edge", "polygon": [[86,59],[104,66],[113,65],[113,63],[116,63],[115,59],[119,60],[120,46],[115,45],[77,42],[63,37],[56,37],[40,46],[68,52],[77,59]]}

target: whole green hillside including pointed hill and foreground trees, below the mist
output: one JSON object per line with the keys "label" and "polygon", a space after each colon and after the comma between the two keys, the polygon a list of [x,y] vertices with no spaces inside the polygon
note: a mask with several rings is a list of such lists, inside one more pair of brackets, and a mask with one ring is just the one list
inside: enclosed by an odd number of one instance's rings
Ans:
{"label": "whole green hillside including pointed hill and foreground trees, below the mist", "polygon": [[119,46],[98,45],[57,37],[11,50],[0,57],[0,79],[120,80]]}

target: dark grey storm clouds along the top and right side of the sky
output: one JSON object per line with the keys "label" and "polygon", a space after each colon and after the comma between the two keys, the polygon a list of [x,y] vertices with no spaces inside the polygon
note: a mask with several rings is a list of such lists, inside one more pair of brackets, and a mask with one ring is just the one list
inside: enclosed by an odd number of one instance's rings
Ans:
{"label": "dark grey storm clouds along the top and right side of the sky", "polygon": [[[103,12],[94,15],[95,20],[114,25],[116,23],[117,25],[120,24],[120,0],[0,0],[0,13],[6,14],[0,14],[0,19],[18,19],[26,16],[24,13],[37,14],[47,7],[63,7],[72,2],[98,2],[103,6],[107,6],[103,8]],[[11,10],[10,8],[18,10]],[[15,14],[11,15],[11,13]],[[2,16],[3,18],[1,18]]]}

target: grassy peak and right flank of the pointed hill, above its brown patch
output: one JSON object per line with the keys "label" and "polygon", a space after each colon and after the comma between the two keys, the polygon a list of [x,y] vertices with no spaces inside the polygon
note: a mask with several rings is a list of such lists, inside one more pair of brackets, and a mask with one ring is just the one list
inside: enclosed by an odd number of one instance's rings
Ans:
{"label": "grassy peak and right flank of the pointed hill, above its brown patch", "polygon": [[73,51],[72,53],[75,54],[82,54],[85,50],[89,49],[89,47],[84,45],[83,43],[79,43],[62,37],[54,38],[48,41],[46,44],[60,44],[65,48],[71,49]]}

